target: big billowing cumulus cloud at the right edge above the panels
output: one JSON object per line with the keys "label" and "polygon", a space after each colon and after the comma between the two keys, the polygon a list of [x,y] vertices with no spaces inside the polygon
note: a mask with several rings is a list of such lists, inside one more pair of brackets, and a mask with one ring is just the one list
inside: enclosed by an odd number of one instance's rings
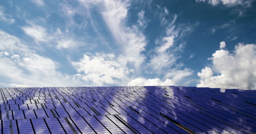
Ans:
{"label": "big billowing cumulus cloud at the right edge above the panels", "polygon": [[[256,44],[237,44],[233,53],[217,50],[209,59],[213,68],[197,73],[197,87],[256,89]],[[213,70],[220,75],[213,76]]]}

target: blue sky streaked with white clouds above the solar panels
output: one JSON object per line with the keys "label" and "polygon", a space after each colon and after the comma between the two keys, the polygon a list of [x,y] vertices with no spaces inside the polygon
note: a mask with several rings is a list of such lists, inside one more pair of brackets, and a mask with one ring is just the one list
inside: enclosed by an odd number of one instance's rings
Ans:
{"label": "blue sky streaked with white clouds above the solar panels", "polygon": [[0,87],[256,89],[256,0],[1,0]]}

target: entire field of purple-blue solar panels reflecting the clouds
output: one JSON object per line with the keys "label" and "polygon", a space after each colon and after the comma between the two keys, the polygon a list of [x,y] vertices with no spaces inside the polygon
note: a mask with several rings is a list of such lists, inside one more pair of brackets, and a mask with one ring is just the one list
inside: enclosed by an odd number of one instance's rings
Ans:
{"label": "entire field of purple-blue solar panels reflecting the clouds", "polygon": [[1,134],[253,134],[256,90],[0,88]]}

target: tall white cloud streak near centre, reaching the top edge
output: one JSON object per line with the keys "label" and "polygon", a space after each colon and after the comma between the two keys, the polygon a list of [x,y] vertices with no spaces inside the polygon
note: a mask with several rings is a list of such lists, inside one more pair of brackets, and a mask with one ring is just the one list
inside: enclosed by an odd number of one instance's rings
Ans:
{"label": "tall white cloud streak near centre, reaching the top edge", "polygon": [[109,30],[118,42],[118,47],[121,47],[122,54],[118,56],[118,61],[122,64],[131,62],[135,68],[139,68],[144,62],[145,56],[141,54],[144,47],[147,45],[143,33],[138,27],[145,28],[144,11],[141,11],[139,16],[139,25],[127,27],[125,19],[127,17],[130,0],[103,0],[102,1],[102,16]]}

